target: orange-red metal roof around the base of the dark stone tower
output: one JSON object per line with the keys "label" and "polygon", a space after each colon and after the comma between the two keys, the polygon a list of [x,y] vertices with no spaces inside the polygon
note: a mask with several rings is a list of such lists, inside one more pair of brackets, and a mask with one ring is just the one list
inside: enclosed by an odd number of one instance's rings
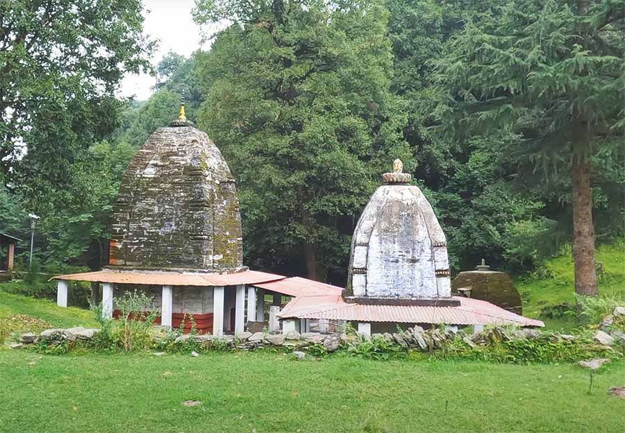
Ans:
{"label": "orange-red metal roof around the base of the dark stone tower", "polygon": [[103,271],[57,275],[51,280],[97,281],[117,284],[163,286],[234,286],[283,279],[283,275],[260,271],[235,273],[177,273],[104,269]]}

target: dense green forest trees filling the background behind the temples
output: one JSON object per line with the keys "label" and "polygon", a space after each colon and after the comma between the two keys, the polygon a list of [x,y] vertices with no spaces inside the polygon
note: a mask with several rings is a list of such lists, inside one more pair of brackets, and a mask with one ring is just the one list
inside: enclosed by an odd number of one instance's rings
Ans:
{"label": "dense green forest trees filling the background behind the temples", "polygon": [[[45,17],[31,3],[1,3],[5,34],[11,17],[40,25]],[[15,105],[35,114],[21,131],[3,119],[0,133],[22,140],[3,138],[10,188],[0,190],[0,230],[28,239],[26,214],[42,214],[42,262],[106,263],[119,179],[149,134],[175,117],[183,92],[188,118],[238,179],[245,261],[257,269],[343,285],[353,226],[394,158],[433,204],[453,271],[481,257],[533,269],[572,241],[582,196],[599,241],[623,235],[622,2],[199,0],[199,24],[229,25],[208,51],[168,53],[153,96],[120,114],[109,90],[124,71],[145,66],[139,56],[149,51],[135,3],[78,2],[58,12],[45,29],[50,44],[69,32],[72,49],[84,36],[102,50],[78,62],[85,69],[76,76],[58,62],[56,75],[35,68],[12,93],[44,105]],[[106,38],[66,28],[111,20],[119,26]],[[111,60],[94,76],[91,66],[111,47],[117,69]],[[0,66],[21,65],[8,61],[18,51],[0,49]],[[44,117],[50,112],[56,117]],[[576,160],[587,164],[583,194],[573,189]]]}

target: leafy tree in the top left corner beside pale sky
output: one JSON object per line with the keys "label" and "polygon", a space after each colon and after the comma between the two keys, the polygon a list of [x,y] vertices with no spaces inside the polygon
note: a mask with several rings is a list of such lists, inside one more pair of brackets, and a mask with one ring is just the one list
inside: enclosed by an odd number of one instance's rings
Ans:
{"label": "leafy tree in the top left corner beside pale sky", "polygon": [[65,187],[79,149],[113,131],[120,80],[150,69],[141,10],[140,0],[0,1],[0,176],[8,185],[45,178]]}

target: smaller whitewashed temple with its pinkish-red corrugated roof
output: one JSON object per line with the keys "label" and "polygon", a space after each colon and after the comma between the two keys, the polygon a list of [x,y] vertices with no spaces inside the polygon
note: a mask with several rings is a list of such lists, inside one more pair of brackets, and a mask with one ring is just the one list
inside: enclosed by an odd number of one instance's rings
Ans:
{"label": "smaller whitewashed temple with its pinkish-red corrugated roof", "polygon": [[430,203],[395,160],[358,220],[351,241],[347,288],[340,295],[298,297],[284,321],[351,322],[363,334],[397,326],[543,326],[484,300],[452,296],[447,239]]}

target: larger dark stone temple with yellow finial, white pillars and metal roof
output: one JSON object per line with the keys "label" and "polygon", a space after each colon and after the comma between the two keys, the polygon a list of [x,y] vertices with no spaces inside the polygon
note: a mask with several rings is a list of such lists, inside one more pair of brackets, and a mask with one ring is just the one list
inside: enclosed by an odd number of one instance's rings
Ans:
{"label": "larger dark stone temple with yellow finial, white pillars and metal roof", "polygon": [[[234,334],[278,329],[283,295],[342,291],[243,266],[235,179],[208,135],[187,121],[184,101],[178,119],[134,155],[111,232],[108,266],[54,278],[58,305],[67,306],[69,282],[90,281],[101,284],[106,316],[120,314],[115,298],[137,290],[151,296],[148,308],[160,310],[161,325],[178,328],[186,319],[189,331],[192,317],[199,332]],[[269,321],[266,295],[273,295]]]}

